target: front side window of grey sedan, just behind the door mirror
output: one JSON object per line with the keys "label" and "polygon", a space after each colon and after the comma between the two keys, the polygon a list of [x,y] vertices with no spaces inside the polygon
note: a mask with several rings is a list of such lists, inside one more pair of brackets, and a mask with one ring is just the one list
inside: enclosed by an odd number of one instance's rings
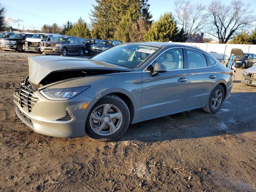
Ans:
{"label": "front side window of grey sedan, just behind the door mirror", "polygon": [[182,48],[167,50],[155,60],[156,62],[166,66],[167,70],[183,69]]}

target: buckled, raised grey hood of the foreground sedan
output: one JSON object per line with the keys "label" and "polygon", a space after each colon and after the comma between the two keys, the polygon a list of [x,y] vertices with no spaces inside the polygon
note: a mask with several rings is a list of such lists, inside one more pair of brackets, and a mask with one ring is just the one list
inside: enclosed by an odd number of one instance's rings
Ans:
{"label": "buckled, raised grey hood of the foreground sedan", "polygon": [[29,82],[38,85],[48,74],[55,71],[72,71],[72,70],[120,70],[120,71],[133,71],[129,68],[115,66],[104,62],[70,58],[62,56],[34,56],[28,58],[28,75]]}

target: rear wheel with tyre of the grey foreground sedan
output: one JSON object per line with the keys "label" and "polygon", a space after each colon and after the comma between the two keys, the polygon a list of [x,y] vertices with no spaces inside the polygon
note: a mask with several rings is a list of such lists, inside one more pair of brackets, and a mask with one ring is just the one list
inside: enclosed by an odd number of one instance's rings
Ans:
{"label": "rear wheel with tyre of the grey foreground sedan", "polygon": [[224,98],[225,92],[223,87],[221,85],[217,85],[213,89],[206,106],[202,109],[208,113],[216,113],[220,109]]}

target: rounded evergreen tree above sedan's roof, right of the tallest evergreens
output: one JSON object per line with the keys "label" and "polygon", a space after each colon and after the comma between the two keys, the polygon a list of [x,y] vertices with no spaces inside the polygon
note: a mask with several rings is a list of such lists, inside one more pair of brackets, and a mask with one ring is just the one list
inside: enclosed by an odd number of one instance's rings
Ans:
{"label": "rounded evergreen tree above sedan's roof, right of the tallest evergreens", "polygon": [[159,41],[159,42],[181,42],[186,37],[184,30],[178,30],[176,21],[172,13],[165,13],[161,15],[159,20],[152,24],[152,27],[144,36],[145,41]]}

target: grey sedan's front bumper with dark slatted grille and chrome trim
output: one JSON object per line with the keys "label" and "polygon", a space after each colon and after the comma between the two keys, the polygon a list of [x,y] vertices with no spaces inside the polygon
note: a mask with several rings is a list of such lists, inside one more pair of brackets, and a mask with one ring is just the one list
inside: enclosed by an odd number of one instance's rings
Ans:
{"label": "grey sedan's front bumper with dark slatted grille and chrome trim", "polygon": [[24,85],[14,92],[15,112],[22,122],[37,133],[64,138],[85,136],[86,118],[96,101],[83,94],[70,100],[48,100]]}

